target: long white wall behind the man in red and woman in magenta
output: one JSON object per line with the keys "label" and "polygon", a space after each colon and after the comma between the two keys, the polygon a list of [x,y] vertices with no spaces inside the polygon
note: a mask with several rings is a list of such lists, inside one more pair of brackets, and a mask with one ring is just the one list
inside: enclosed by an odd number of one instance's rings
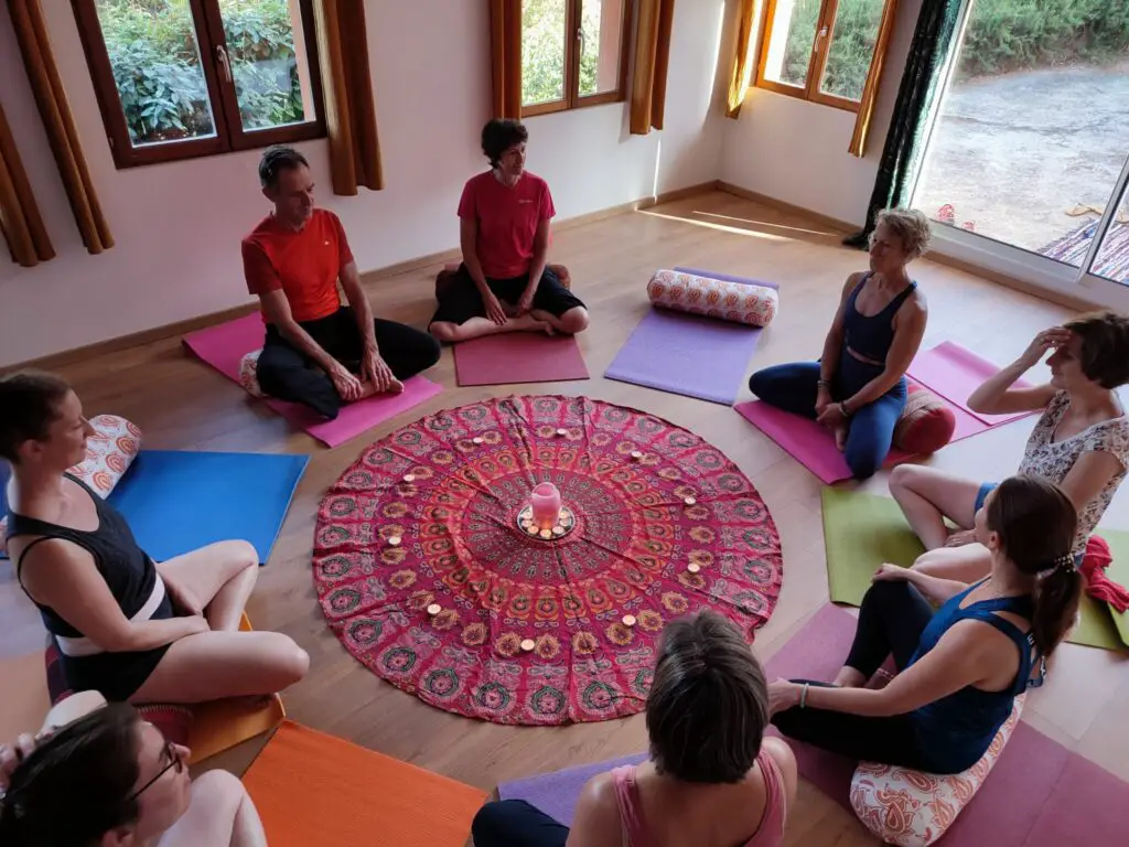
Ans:
{"label": "long white wall behind the man in red and woman in magenta", "polygon": [[[365,1],[387,187],[333,197],[325,142],[300,147],[320,202],[341,216],[358,264],[371,270],[456,246],[460,191],[484,166],[490,70],[480,0]],[[725,6],[675,6],[665,131],[628,134],[627,104],[528,120],[528,166],[549,181],[561,218],[718,178]],[[116,246],[98,256],[82,247],[5,5],[3,106],[59,256],[32,269],[0,261],[0,366],[247,302],[239,238],[268,211],[253,151],[115,169],[71,6],[43,7]]]}

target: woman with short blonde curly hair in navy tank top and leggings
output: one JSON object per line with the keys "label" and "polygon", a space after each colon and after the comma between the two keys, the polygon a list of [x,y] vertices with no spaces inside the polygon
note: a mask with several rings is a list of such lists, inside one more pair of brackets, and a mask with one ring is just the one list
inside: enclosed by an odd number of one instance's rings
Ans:
{"label": "woman with short blonde curly hair in navy tank top and leggings", "polygon": [[929,220],[921,212],[879,212],[870,270],[847,278],[822,358],[764,368],[749,381],[765,403],[831,429],[858,479],[882,466],[905,408],[905,370],[926,324],[925,296],[905,265],[928,243]]}

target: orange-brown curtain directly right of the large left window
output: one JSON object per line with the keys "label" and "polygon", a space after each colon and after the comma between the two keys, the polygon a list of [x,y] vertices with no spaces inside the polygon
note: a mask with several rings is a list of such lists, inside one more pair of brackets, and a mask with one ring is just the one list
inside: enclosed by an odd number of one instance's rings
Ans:
{"label": "orange-brown curtain directly right of the large left window", "polygon": [[353,195],[361,185],[379,191],[384,187],[384,168],[368,67],[365,3],[316,0],[314,10],[333,193]]}

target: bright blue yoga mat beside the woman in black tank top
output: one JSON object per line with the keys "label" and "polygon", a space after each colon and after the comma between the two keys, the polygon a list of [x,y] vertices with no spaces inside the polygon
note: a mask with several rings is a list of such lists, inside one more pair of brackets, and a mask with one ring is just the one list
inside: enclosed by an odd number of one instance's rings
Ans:
{"label": "bright blue yoga mat beside the woman in black tank top", "polygon": [[108,499],[158,561],[244,539],[265,562],[308,463],[304,455],[143,449]]}

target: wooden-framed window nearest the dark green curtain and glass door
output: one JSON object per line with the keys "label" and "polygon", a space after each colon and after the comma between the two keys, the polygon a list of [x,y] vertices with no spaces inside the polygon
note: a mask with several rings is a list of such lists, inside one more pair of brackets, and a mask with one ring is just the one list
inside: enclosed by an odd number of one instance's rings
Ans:
{"label": "wooden-framed window nearest the dark green curtain and glass door", "polygon": [[898,0],[768,0],[756,86],[858,112],[874,96]]}

